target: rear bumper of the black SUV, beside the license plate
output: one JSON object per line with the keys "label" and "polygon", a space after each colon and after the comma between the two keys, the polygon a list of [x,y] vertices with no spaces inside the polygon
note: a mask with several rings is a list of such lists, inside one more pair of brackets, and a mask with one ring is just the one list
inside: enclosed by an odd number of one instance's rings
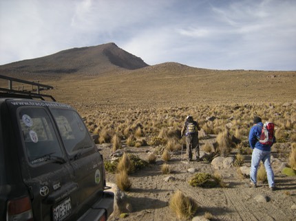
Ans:
{"label": "rear bumper of the black SUV, beside the license plate", "polygon": [[96,201],[78,221],[100,220],[102,216],[109,218],[114,208],[114,194],[110,191],[104,191],[103,197]]}

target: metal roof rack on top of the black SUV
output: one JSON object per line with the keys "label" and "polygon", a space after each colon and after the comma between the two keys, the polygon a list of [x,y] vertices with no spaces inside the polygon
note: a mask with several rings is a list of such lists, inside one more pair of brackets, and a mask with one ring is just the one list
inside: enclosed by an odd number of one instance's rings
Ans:
{"label": "metal roof rack on top of the black SUV", "polygon": [[[45,100],[44,97],[50,98],[52,101],[56,101],[52,95],[46,95],[40,93],[40,91],[44,90],[51,90],[54,89],[53,86],[46,85],[46,84],[39,84],[36,82],[30,82],[28,80],[21,80],[18,78],[11,78],[8,76],[0,75],[0,79],[8,80],[8,89],[0,87],[0,97],[22,97],[22,98],[29,98],[29,99],[41,99]],[[18,89],[15,90],[12,88],[13,82],[19,82],[23,84],[28,84],[32,86],[32,89],[24,89],[24,86],[18,86]]]}

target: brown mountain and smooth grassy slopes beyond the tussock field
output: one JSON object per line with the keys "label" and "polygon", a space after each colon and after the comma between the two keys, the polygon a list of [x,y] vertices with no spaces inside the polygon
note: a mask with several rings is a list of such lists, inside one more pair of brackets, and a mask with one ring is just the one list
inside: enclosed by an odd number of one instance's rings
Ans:
{"label": "brown mountain and smooth grassy slopes beyond the tussock field", "polygon": [[[29,74],[30,73],[30,74]],[[67,73],[67,74],[65,74]],[[176,62],[149,66],[109,43],[0,66],[0,74],[54,86],[60,102],[97,108],[293,102],[296,71],[211,70]],[[1,82],[0,86],[7,86]]]}

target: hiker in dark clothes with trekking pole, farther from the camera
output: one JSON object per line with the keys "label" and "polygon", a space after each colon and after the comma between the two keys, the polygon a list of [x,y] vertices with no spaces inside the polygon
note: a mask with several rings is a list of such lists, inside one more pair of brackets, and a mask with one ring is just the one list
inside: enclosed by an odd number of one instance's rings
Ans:
{"label": "hiker in dark clothes with trekking pole, farther from the camera", "polygon": [[186,121],[184,122],[184,126],[181,130],[181,136],[186,136],[186,153],[188,157],[187,161],[191,161],[192,156],[194,156],[194,161],[200,161],[198,130],[200,130],[198,122],[194,121],[192,116],[187,116]]}

